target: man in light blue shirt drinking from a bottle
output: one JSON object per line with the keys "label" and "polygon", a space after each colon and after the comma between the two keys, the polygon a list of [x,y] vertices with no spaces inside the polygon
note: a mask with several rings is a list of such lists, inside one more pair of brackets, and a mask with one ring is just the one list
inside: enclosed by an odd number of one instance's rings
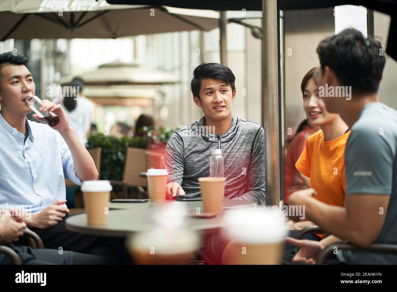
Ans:
{"label": "man in light blue shirt drinking from a bottle", "polygon": [[[97,180],[98,172],[60,104],[44,100],[39,109],[58,115],[54,127],[26,118],[32,109],[25,98],[35,95],[36,89],[27,63],[22,55],[0,54],[0,205],[29,206],[31,216],[23,221],[45,248],[107,255],[129,263],[123,240],[66,230],[65,178],[81,185]],[[43,121],[37,114],[33,118]]]}

